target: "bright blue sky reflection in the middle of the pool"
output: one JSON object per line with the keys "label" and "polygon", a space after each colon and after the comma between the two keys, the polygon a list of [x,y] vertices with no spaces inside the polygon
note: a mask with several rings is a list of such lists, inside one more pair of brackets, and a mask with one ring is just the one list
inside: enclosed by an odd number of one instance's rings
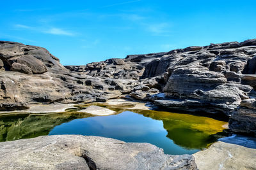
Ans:
{"label": "bright blue sky reflection in the middle of the pool", "polygon": [[90,117],[72,120],[52,129],[52,134],[82,134],[87,136],[103,136],[126,142],[152,143],[164,149],[165,153],[184,154],[195,153],[198,150],[188,150],[166,138],[167,132],[163,122],[144,117],[131,111],[107,117]]}

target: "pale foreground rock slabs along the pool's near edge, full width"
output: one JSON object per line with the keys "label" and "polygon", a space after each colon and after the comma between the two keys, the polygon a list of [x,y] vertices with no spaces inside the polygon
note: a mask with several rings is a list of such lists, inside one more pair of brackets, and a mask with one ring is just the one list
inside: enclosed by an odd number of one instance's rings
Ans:
{"label": "pale foreground rock slabs along the pool's near edge, full width", "polygon": [[1,142],[0,155],[2,169],[204,170],[256,166],[255,139],[236,136],[223,138],[193,155],[166,155],[163,149],[148,143],[125,143],[97,136],[40,136]]}

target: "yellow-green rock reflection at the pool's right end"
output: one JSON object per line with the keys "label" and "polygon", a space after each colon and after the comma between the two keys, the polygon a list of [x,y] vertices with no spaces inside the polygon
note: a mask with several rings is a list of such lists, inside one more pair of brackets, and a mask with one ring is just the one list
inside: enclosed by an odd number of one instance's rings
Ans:
{"label": "yellow-green rock reflection at the pool's right end", "polygon": [[162,120],[168,138],[179,146],[189,149],[202,149],[216,141],[214,137],[222,132],[227,122],[194,115],[168,113],[164,111],[134,111],[142,113],[145,117]]}

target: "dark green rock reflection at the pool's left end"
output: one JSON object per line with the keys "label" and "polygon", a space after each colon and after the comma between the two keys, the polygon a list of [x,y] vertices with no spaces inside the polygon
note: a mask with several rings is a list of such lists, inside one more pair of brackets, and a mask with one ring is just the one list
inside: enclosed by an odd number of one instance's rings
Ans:
{"label": "dark green rock reflection at the pool's left end", "polygon": [[19,115],[2,116],[0,120],[0,141],[47,135],[56,125],[84,117],[90,117],[90,115],[84,113],[54,113],[47,115],[19,113]]}

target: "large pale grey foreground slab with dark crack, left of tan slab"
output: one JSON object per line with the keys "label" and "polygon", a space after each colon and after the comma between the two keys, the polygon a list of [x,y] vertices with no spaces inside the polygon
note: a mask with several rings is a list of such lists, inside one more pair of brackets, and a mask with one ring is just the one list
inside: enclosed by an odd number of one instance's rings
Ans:
{"label": "large pale grey foreground slab with dark crack, left of tan slab", "polygon": [[0,143],[1,169],[196,169],[192,155],[96,136],[40,136]]}

